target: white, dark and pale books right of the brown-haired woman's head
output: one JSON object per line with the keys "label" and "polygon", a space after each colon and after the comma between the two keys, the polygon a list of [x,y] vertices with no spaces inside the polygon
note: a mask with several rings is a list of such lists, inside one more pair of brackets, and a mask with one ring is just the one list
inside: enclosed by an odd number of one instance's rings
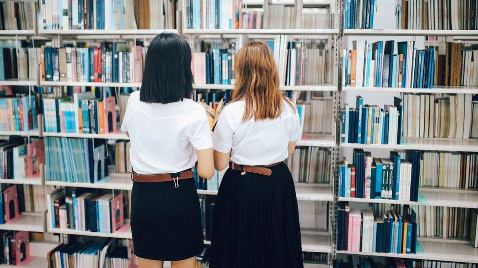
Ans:
{"label": "white, dark and pale books right of the brown-haired woman's head", "polygon": [[331,82],[332,55],[323,41],[288,42],[285,85],[315,85]]}

